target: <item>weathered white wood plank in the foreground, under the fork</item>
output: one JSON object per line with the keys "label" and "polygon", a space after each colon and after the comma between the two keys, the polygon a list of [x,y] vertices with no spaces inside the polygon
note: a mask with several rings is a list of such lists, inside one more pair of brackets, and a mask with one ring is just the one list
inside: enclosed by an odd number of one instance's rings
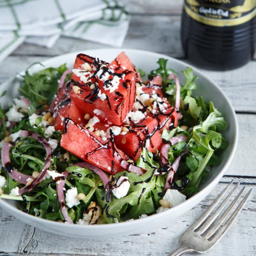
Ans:
{"label": "weathered white wood plank in the foreground, under the fork", "polygon": [[[222,181],[226,182],[223,179]],[[166,225],[146,233],[140,234],[138,231],[138,234],[133,236],[109,238],[106,240],[84,240],[55,236],[39,229],[35,229],[34,232],[34,228],[0,211],[0,233],[5,234],[1,237],[0,255],[20,255],[22,252],[28,256],[42,256],[45,254],[47,256],[166,255],[175,249],[182,232],[202,214],[225,186],[226,184],[219,183],[206,199],[174,222],[166,223]],[[256,229],[256,186],[247,185],[246,190],[250,188],[254,188],[254,191],[249,202],[247,202],[228,233],[222,238],[222,241],[208,253],[209,256],[255,255],[256,245],[253,237],[255,236]],[[8,221],[4,221],[6,219]],[[14,227],[15,233],[12,232]],[[24,236],[25,229],[30,229],[30,231],[27,231],[29,237]],[[12,243],[10,243],[10,237],[12,238]],[[20,248],[24,248],[24,250],[22,251]]]}

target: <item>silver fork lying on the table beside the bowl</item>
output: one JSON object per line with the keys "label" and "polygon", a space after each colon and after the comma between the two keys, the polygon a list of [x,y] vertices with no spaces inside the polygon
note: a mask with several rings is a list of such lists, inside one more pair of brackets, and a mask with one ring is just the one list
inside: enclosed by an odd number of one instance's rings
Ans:
{"label": "silver fork lying on the table beside the bowl", "polygon": [[[175,251],[173,251],[169,256],[179,256],[184,252],[195,251],[204,253],[209,251],[216,243],[220,241],[222,236],[228,231],[232,223],[235,221],[238,214],[243,209],[244,204],[251,195],[252,189],[250,189],[247,194],[243,197],[243,200],[236,207],[236,203],[239,201],[242,193],[245,189],[245,186],[240,190],[236,198],[229,204],[229,207],[225,209],[222,216],[217,218],[221,213],[222,209],[229,202],[232,195],[234,195],[236,189],[239,186],[239,183],[229,192],[226,198],[218,206],[216,211],[213,210],[216,208],[217,204],[221,201],[222,197],[227,194],[230,190],[233,181],[230,182],[225,189],[217,196],[215,201],[209,206],[209,208],[198,218],[197,221],[180,237],[180,245]],[[229,216],[231,211],[234,212]],[[212,214],[211,214],[212,213]],[[210,215],[211,214],[211,215]],[[223,223],[226,220],[225,223]]]}

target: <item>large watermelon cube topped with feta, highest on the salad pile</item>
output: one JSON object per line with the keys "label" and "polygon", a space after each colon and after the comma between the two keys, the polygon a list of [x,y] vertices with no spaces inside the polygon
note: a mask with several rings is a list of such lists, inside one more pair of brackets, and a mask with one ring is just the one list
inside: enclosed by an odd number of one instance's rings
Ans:
{"label": "large watermelon cube topped with feta, highest on the salad pile", "polygon": [[[124,61],[128,66],[128,57]],[[76,89],[70,90],[70,97],[83,115],[115,125],[121,125],[135,101],[134,68],[113,67],[85,54],[76,57],[71,83]]]}

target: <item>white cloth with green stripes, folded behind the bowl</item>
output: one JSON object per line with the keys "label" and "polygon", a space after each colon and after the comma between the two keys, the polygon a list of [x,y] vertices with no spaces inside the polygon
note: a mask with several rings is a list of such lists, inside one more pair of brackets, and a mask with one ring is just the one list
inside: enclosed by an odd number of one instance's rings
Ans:
{"label": "white cloth with green stripes, folded behind the bowl", "polygon": [[0,0],[0,61],[24,41],[52,47],[61,35],[120,47],[128,23],[117,0]]}

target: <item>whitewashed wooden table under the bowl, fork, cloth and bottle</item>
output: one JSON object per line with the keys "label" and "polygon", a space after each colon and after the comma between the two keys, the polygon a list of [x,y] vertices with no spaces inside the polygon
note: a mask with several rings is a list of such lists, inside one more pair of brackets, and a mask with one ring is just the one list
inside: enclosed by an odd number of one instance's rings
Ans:
{"label": "whitewashed wooden table under the bowl, fork, cloth and bottle", "polygon": [[[143,49],[184,59],[180,43],[182,0],[126,0],[131,23],[123,47]],[[52,56],[106,47],[61,37],[53,48],[23,44],[0,63],[0,82],[28,65]],[[227,72],[203,71],[216,81],[231,100],[239,122],[236,155],[216,189],[175,222],[127,237],[84,240],[55,236],[35,229],[0,209],[0,256],[3,255],[166,255],[178,245],[178,237],[200,216],[226,183],[234,179],[254,188],[246,207],[209,256],[256,255],[256,61]]]}

